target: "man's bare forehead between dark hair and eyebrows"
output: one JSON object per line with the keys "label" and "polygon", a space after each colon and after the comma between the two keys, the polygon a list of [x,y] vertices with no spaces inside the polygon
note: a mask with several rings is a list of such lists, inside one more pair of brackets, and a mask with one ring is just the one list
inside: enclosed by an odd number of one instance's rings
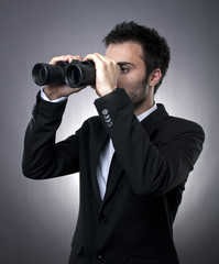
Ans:
{"label": "man's bare forehead between dark hair and eyebrows", "polygon": [[107,48],[106,56],[119,62],[143,61],[143,51],[136,42],[124,42],[110,44]]}

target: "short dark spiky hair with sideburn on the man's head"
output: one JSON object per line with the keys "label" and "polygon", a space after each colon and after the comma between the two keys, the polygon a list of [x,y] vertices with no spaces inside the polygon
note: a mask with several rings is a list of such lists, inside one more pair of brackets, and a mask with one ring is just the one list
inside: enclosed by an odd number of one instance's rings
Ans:
{"label": "short dark spiky hair with sideburn on the man's head", "polygon": [[136,42],[142,46],[146,66],[146,79],[154,69],[161,69],[162,78],[154,87],[155,94],[163,77],[166,75],[171,59],[171,52],[165,37],[161,36],[154,29],[139,25],[131,21],[117,24],[102,40],[107,47],[110,44],[124,43],[128,41]]}

